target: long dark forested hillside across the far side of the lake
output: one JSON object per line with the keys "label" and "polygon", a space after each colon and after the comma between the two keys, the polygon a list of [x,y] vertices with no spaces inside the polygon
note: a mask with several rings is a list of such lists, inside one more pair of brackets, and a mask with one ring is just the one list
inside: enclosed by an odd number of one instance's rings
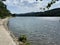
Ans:
{"label": "long dark forested hillside across the far side of the lake", "polygon": [[45,12],[31,12],[25,14],[13,14],[13,16],[60,16],[60,8],[48,10]]}

